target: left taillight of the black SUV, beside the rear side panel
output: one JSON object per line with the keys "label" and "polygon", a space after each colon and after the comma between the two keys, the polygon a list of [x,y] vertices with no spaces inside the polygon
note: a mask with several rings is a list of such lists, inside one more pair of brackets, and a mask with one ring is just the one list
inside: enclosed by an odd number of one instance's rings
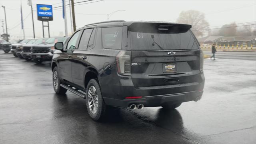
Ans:
{"label": "left taillight of the black SUV, beside the rear side panel", "polygon": [[131,52],[121,50],[116,56],[118,74],[131,75]]}

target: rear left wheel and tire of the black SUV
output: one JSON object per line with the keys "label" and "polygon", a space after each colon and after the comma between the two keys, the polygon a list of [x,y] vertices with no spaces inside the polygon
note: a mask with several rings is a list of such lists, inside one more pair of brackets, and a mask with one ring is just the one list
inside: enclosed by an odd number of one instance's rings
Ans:
{"label": "rear left wheel and tire of the black SUV", "polygon": [[97,80],[91,79],[86,88],[86,107],[90,117],[99,121],[105,116],[106,105],[103,101],[100,85]]}

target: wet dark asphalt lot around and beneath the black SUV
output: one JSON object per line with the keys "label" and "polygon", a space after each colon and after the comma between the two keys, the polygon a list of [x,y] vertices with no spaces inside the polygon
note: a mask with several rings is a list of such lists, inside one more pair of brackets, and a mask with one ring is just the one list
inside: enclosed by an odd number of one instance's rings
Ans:
{"label": "wet dark asphalt lot around and beneath the black SUV", "polygon": [[198,102],[121,109],[95,122],[84,99],[54,93],[50,62],[1,51],[0,143],[256,143],[255,60],[205,59],[204,74]]}

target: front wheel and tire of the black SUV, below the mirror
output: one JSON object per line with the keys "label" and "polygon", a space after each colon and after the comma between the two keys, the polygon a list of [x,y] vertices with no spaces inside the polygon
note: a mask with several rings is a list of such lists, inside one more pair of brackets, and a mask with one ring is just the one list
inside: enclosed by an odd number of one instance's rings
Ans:
{"label": "front wheel and tire of the black SUV, below the mirror", "polygon": [[58,68],[55,66],[53,71],[52,71],[52,84],[53,84],[53,89],[56,92],[56,94],[65,94],[67,92],[67,89],[62,88],[60,86],[61,80],[58,75]]}

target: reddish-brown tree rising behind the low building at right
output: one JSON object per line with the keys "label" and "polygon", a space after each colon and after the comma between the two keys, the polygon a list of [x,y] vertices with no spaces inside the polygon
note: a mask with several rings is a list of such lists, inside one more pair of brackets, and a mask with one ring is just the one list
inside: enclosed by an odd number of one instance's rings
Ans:
{"label": "reddish-brown tree rising behind the low building at right", "polygon": [[236,22],[225,24],[220,28],[220,36],[236,36]]}

